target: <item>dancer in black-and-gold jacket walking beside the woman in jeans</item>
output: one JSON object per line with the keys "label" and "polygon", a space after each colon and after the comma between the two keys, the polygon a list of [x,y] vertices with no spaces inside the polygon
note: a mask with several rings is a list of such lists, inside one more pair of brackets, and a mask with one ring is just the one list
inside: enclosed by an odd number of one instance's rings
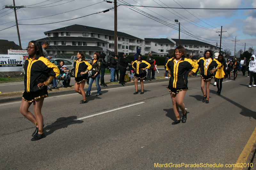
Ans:
{"label": "dancer in black-and-gold jacket walking beside the woman in jeans", "polygon": [[89,70],[92,69],[92,65],[85,61],[85,56],[83,51],[77,52],[77,60],[74,62],[75,68],[75,91],[79,94],[82,94],[83,100],[81,100],[80,104],[87,103],[86,95],[84,92],[84,84],[87,81]]}

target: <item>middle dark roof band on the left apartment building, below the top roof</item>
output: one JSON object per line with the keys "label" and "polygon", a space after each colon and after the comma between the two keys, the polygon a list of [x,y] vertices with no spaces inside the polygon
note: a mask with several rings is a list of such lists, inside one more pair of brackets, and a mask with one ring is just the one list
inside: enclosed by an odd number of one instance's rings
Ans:
{"label": "middle dark roof band on the left apartment building, below the top roof", "polygon": [[70,36],[64,36],[64,37],[46,37],[42,38],[36,41],[86,41],[86,42],[105,42],[107,41],[100,40],[98,38],[92,38],[92,37],[70,37]]}

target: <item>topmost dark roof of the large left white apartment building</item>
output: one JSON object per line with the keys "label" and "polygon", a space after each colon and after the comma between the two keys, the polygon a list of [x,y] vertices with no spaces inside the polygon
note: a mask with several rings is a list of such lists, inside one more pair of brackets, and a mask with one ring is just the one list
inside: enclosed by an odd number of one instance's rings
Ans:
{"label": "topmost dark roof of the large left white apartment building", "polygon": [[[79,32],[79,33],[100,33],[105,35],[114,36],[114,31],[101,29],[101,28],[95,28],[91,26],[83,26],[83,25],[72,25],[72,26],[65,26],[62,28],[58,28],[51,31],[46,31],[44,34],[52,33],[52,32]],[[132,35],[129,35],[127,33],[117,32],[118,37],[124,37],[124,38],[132,38],[137,40],[142,40],[138,37],[134,37]]]}

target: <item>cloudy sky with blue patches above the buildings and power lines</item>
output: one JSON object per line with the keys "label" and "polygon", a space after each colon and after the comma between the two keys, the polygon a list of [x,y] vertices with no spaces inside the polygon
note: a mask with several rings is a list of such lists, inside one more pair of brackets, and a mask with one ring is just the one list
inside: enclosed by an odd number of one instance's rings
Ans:
{"label": "cloudy sky with blue patches above the buildings and power lines", "polygon": [[[223,26],[222,31],[227,31],[222,33],[221,48],[223,50],[229,49],[234,55],[235,37],[237,40],[236,51],[244,50],[245,43],[245,50],[248,50],[249,47],[256,49],[255,10],[185,10],[122,5],[239,9],[256,8],[256,0],[117,0],[117,4],[120,5],[117,7],[118,31],[126,31],[144,38],[178,39],[179,26],[174,22],[175,19],[178,19],[181,39],[199,40],[212,45],[218,42],[218,46],[220,46],[220,33],[216,32],[220,31]],[[13,1],[0,0],[0,6],[5,5],[13,5]],[[45,31],[74,24],[114,30],[114,10],[101,12],[112,8],[114,3],[110,4],[103,0],[16,0],[15,5],[26,6],[26,8],[17,10],[22,48],[26,48],[31,40],[46,37]],[[93,14],[96,12],[101,13]],[[90,16],[83,17],[86,15]],[[73,20],[65,21],[69,19]],[[0,30],[2,30],[0,39],[19,44],[12,9],[0,10]],[[256,50],[254,54],[256,54]]]}

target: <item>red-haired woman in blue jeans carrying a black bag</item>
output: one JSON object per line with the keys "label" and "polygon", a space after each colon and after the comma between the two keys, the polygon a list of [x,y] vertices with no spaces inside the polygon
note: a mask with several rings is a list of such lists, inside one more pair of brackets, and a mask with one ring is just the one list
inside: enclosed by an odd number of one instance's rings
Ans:
{"label": "red-haired woman in blue jeans carrying a black bag", "polygon": [[94,80],[95,80],[96,87],[97,87],[96,95],[97,96],[101,95],[101,88],[100,88],[100,84],[99,84],[101,63],[99,61],[99,58],[100,58],[99,53],[94,53],[93,58],[94,58],[94,60],[92,60],[92,62],[90,64],[92,65],[92,70],[95,68],[95,74],[90,76],[89,85],[88,85],[87,92],[86,92],[87,96],[90,96],[90,94],[91,94],[92,83]]}

